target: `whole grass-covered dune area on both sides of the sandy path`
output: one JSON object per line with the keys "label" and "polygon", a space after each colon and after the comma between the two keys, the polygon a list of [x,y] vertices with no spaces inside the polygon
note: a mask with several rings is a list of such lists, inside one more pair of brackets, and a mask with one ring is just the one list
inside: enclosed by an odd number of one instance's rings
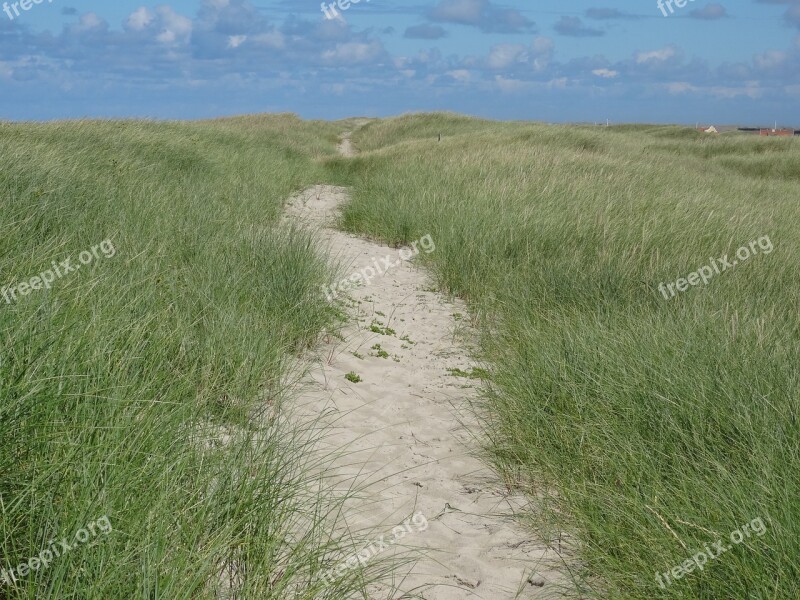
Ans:
{"label": "whole grass-covered dune area on both sides of the sandy path", "polygon": [[350,125],[0,124],[0,570],[113,527],[0,598],[214,598],[226,569],[242,598],[363,595],[361,571],[319,579],[343,499],[278,410],[336,315],[276,221],[324,182],[353,187],[348,230],[435,240],[483,334],[487,450],[540,531],[574,535],[587,595],[798,597],[798,141],[436,114],[374,121],[343,159]]}

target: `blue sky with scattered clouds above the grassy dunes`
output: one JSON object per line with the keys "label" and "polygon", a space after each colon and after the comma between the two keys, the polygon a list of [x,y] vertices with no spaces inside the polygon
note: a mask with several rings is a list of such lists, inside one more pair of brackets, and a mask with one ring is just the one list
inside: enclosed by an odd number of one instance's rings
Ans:
{"label": "blue sky with scattered clouds above the grassy dunes", "polygon": [[333,18],[318,0],[2,1],[0,119],[800,128],[800,0],[361,0]]}

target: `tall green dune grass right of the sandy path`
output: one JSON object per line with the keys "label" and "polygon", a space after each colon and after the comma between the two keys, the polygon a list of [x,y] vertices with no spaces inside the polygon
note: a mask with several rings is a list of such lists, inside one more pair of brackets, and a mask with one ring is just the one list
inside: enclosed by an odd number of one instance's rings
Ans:
{"label": "tall green dune grass right of the sandy path", "polygon": [[[329,161],[354,190],[343,226],[433,236],[426,260],[483,332],[491,456],[542,497],[541,531],[575,535],[588,593],[800,596],[800,142],[438,114],[353,142]],[[756,519],[763,535],[658,583]]]}

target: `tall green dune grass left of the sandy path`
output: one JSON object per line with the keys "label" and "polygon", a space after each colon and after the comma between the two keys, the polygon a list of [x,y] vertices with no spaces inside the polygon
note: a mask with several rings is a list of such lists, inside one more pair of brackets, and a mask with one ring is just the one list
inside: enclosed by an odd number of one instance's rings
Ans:
{"label": "tall green dune grass left of the sandy path", "polygon": [[[0,124],[0,286],[110,244],[0,298],[0,598],[363,590],[319,578],[347,546],[327,533],[343,498],[315,424],[279,410],[292,355],[335,315],[322,257],[276,219],[338,133],[287,115]],[[17,569],[101,517],[113,531]]]}

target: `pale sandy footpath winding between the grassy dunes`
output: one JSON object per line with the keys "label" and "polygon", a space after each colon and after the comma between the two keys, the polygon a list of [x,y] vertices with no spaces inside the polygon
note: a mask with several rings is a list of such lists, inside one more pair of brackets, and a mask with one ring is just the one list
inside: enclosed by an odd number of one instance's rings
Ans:
{"label": "pale sandy footpath winding between the grassy dunes", "polygon": [[[340,149],[352,155],[349,139]],[[343,276],[374,266],[373,259],[400,262],[369,285],[339,295],[352,299],[344,340],[332,338],[315,350],[298,400],[304,414],[331,411],[324,443],[348,449],[329,474],[343,487],[353,480],[371,483],[366,497],[348,507],[348,526],[375,528],[391,540],[395,525],[412,514],[424,517],[406,521],[402,541],[382,550],[410,547],[423,556],[370,597],[561,597],[560,560],[509,518],[525,500],[504,493],[473,456],[477,444],[461,425],[470,423],[464,409],[477,393],[476,381],[447,370],[476,366],[462,341],[469,336],[455,335],[469,331],[458,317],[466,308],[430,291],[425,272],[413,259],[399,261],[398,250],[332,229],[346,199],[342,188],[316,186],[289,201],[285,218],[317,231],[321,251],[344,266]],[[396,333],[375,333],[373,324]],[[375,344],[389,357],[377,356]],[[362,381],[348,381],[350,372]]]}

